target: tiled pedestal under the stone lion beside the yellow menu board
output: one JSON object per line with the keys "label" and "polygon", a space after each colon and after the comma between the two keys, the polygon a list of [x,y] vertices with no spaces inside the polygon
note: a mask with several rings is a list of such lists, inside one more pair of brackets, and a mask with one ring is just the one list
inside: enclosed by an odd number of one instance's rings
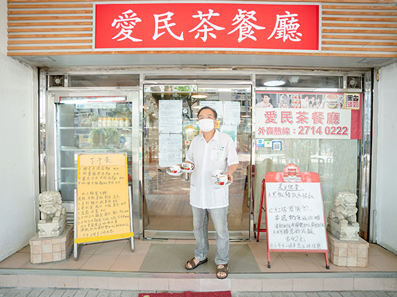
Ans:
{"label": "tiled pedestal under the stone lion beside the yellow menu board", "polygon": [[65,260],[73,245],[73,226],[66,225],[62,234],[56,237],[39,238],[37,233],[29,243],[33,264]]}

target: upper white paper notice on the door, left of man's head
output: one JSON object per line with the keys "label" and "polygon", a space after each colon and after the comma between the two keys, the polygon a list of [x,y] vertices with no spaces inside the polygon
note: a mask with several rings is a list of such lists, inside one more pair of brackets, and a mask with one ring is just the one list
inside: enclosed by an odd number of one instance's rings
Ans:
{"label": "upper white paper notice on the door, left of man's head", "polygon": [[182,133],[182,100],[159,100],[159,133]]}

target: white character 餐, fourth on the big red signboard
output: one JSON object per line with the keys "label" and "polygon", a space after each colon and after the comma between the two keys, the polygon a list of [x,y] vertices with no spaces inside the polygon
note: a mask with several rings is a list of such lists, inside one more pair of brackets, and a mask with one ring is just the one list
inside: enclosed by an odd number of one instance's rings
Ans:
{"label": "white character \u9910, fourth on the big red signboard", "polygon": [[256,25],[252,23],[252,21],[256,21],[256,17],[254,17],[254,10],[247,12],[247,10],[238,10],[238,14],[236,14],[236,17],[234,17],[232,25],[237,25],[234,30],[230,31],[227,34],[232,34],[233,32],[236,32],[239,30],[239,35],[238,35],[238,42],[240,43],[244,39],[250,38],[254,41],[256,41],[256,37],[254,36],[254,30],[252,28],[255,28],[256,30],[263,30],[265,27],[261,27],[260,25]]}

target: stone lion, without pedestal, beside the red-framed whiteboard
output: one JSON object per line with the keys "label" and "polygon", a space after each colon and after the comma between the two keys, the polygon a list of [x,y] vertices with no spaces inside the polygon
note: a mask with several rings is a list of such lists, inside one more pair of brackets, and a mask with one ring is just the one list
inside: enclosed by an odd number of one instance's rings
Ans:
{"label": "stone lion, without pedestal, beside the red-framed whiteboard", "polygon": [[350,192],[338,192],[334,200],[334,206],[328,214],[327,230],[342,240],[358,240],[357,223],[357,195]]}

